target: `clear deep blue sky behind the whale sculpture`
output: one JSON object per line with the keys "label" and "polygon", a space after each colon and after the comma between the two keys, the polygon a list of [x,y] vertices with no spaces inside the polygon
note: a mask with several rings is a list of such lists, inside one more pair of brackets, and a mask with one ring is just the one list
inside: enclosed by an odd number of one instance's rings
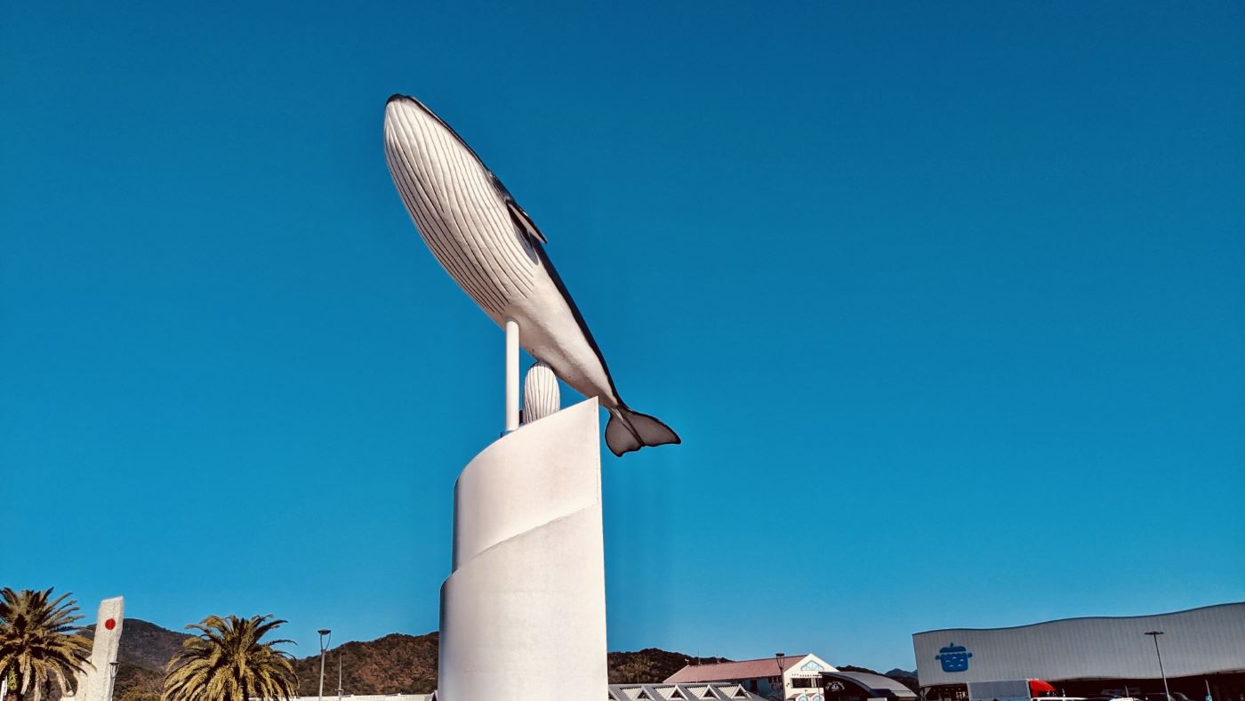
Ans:
{"label": "clear deep blue sky behind the whale sculpture", "polygon": [[1245,599],[1239,2],[315,5],[0,5],[0,584],[437,626],[502,334],[405,92],[684,438],[605,456],[611,649]]}

